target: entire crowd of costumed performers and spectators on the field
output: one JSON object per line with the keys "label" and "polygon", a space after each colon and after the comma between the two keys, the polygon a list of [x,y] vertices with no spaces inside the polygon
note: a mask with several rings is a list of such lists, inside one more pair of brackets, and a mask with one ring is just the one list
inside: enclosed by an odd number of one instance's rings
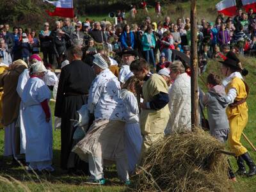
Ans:
{"label": "entire crowd of costumed performers and spectators on the field", "polygon": [[[159,9],[157,9],[159,10]],[[4,156],[28,163],[28,170],[52,172],[52,120],[61,129],[61,168],[90,172],[88,183],[104,184],[104,165],[116,162],[120,180],[129,175],[147,149],[164,135],[191,131],[190,19],[113,26],[108,21],[49,23],[37,31],[0,25],[0,86],[4,125]],[[234,18],[218,15],[216,23],[198,24],[200,72],[207,60],[221,60],[218,74],[209,74],[209,92],[200,92],[207,107],[210,134],[228,140],[241,175],[256,166],[240,138],[248,122],[248,74],[236,54],[254,54],[256,19],[237,11]],[[42,52],[43,59],[40,57]],[[56,76],[52,68],[61,68]],[[3,69],[3,70],[2,70]],[[87,105],[83,138],[74,138],[77,111]],[[226,113],[227,110],[227,113]],[[203,111],[201,111],[203,112]],[[58,122],[58,124],[56,123]],[[105,161],[108,160],[108,161]],[[248,164],[246,172],[244,161]],[[229,177],[236,180],[231,169]]]}

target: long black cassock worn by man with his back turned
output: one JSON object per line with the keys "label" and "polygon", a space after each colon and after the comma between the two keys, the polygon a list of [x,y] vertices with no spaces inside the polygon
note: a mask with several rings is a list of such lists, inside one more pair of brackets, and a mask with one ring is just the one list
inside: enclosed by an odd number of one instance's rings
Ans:
{"label": "long black cassock worn by man with his back turned", "polygon": [[67,169],[73,144],[74,127],[70,119],[78,120],[77,110],[87,104],[87,95],[95,74],[92,67],[81,60],[72,61],[61,69],[55,105],[55,116],[61,117],[61,168]]}

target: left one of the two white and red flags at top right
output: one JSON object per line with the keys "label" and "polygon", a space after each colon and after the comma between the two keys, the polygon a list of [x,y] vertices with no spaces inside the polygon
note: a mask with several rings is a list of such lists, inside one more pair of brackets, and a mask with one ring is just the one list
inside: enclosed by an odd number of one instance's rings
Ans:
{"label": "left one of the two white and red flags at top right", "polygon": [[218,13],[223,13],[227,16],[236,15],[236,0],[223,0],[216,4],[216,9]]}

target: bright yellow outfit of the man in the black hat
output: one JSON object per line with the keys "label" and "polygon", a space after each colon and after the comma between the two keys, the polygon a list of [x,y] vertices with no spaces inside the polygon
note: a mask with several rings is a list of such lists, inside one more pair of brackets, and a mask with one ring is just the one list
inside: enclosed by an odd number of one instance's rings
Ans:
{"label": "bright yellow outfit of the man in the black hat", "polygon": [[[239,77],[234,77],[234,79],[232,79],[232,81],[227,84],[227,93],[230,88],[236,89],[237,96],[235,100],[242,100],[247,97],[246,86],[243,80]],[[243,147],[242,143],[240,142],[241,134],[248,122],[248,106],[246,102],[239,104],[234,108],[228,106],[227,116],[230,126],[228,143],[231,147],[232,152],[234,152],[238,157],[247,152],[247,149]]]}

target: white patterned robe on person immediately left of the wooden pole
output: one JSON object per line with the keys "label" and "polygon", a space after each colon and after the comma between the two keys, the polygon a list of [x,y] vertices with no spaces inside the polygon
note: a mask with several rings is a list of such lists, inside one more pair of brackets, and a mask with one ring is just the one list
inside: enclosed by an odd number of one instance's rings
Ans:
{"label": "white patterned robe on person immediately left of the wooden pole", "polygon": [[165,133],[191,131],[191,84],[188,74],[180,74],[170,90],[170,127]]}

